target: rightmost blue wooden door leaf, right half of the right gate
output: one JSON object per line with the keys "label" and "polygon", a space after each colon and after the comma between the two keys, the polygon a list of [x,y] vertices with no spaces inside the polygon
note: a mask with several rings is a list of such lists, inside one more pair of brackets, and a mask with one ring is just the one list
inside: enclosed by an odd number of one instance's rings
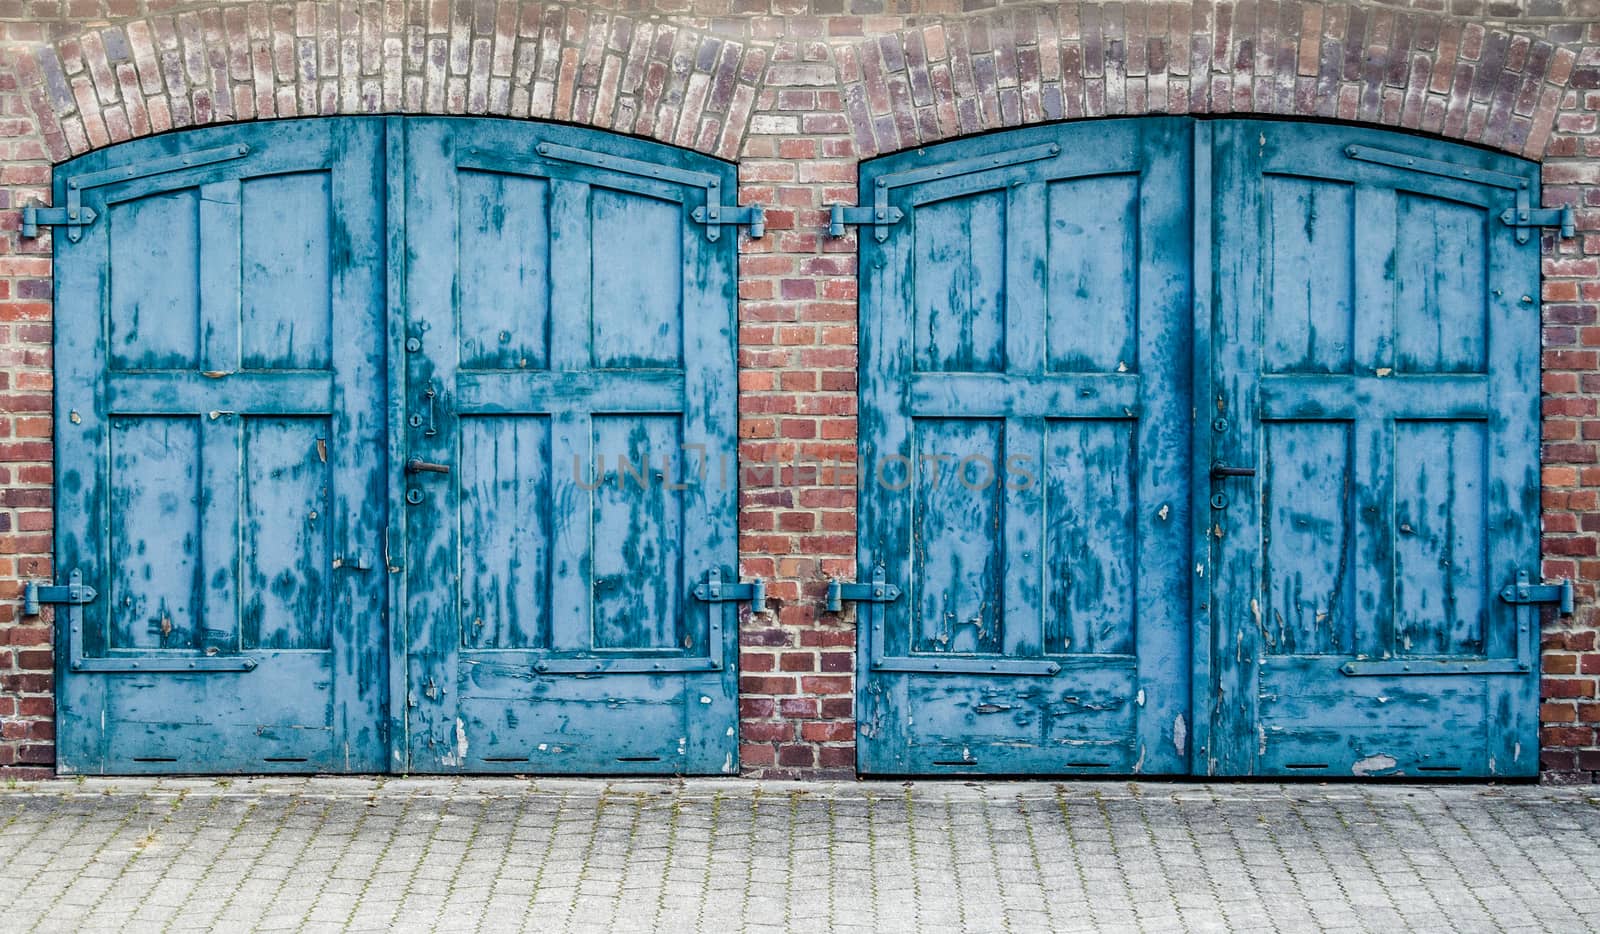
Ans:
{"label": "rightmost blue wooden door leaf, right half of the right gate", "polygon": [[[1203,771],[1538,774],[1538,166],[1338,126],[1211,147]],[[1211,265],[1214,264],[1214,265]],[[1219,472],[1219,473],[1226,473]]]}

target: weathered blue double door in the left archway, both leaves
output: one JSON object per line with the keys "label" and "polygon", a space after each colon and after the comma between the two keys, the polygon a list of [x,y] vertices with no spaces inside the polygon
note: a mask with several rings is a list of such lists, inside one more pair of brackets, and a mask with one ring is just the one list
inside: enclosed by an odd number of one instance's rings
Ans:
{"label": "weathered blue double door in the left archway, both leaves", "polygon": [[336,118],[56,178],[62,771],[736,768],[731,166]]}

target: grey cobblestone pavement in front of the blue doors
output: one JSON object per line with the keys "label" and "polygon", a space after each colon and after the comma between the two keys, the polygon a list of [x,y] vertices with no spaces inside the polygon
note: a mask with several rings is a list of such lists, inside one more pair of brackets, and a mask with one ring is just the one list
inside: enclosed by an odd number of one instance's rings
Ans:
{"label": "grey cobblestone pavement in front of the blue doors", "polygon": [[59,780],[8,931],[1595,931],[1600,788]]}

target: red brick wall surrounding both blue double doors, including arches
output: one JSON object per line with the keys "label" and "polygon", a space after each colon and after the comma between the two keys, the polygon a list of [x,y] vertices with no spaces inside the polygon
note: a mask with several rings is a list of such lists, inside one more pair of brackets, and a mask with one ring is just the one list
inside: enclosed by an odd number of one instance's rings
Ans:
{"label": "red brick wall surrounding both blue double doors, including arches", "polygon": [[[968,10],[966,13],[958,11]],[[50,245],[18,208],[50,166],[208,122],[435,112],[554,118],[736,158],[744,240],[741,553],[774,581],[742,629],[747,772],[853,771],[856,163],[1003,126],[1278,114],[1398,126],[1544,162],[1544,766],[1600,774],[1600,0],[0,0],[0,769],[51,763]]]}

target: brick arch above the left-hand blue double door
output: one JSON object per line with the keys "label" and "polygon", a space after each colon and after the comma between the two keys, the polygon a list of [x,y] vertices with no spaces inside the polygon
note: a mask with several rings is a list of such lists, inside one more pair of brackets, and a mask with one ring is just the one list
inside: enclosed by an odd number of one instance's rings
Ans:
{"label": "brick arch above the left-hand blue double door", "polygon": [[731,160],[768,58],[587,5],[418,6],[250,0],[85,26],[22,51],[18,77],[58,163],[168,130],[355,114],[555,120]]}

